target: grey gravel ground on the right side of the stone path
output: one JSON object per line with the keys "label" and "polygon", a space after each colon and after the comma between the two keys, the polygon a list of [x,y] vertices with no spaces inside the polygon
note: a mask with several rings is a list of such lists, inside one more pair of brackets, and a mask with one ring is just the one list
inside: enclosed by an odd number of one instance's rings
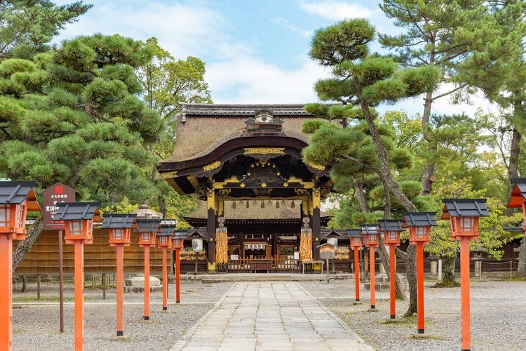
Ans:
{"label": "grey gravel ground on the right side of the stone path", "polygon": [[[459,350],[460,289],[436,289],[426,283],[424,304],[426,334],[417,340],[414,317],[386,324],[389,318],[389,293],[376,293],[379,312],[367,312],[370,292],[360,290],[362,305],[353,305],[354,282],[332,281],[330,284],[301,282],[377,350]],[[407,293],[408,294],[408,293]],[[351,298],[349,298],[351,297]],[[407,310],[407,301],[397,301],[397,316]],[[526,282],[471,283],[471,350],[526,349]]]}

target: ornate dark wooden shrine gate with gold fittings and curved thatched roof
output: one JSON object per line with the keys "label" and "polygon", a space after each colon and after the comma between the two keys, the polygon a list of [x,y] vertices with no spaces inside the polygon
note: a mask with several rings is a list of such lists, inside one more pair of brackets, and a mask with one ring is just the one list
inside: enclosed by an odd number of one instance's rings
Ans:
{"label": "ornate dark wooden shrine gate with gold fittings and curved thatched roof", "polygon": [[209,271],[259,259],[276,272],[291,257],[318,258],[330,219],[320,206],[333,183],[328,168],[302,160],[302,125],[315,118],[303,106],[183,105],[174,151],[157,169],[178,194],[201,200],[186,219],[204,237]]}

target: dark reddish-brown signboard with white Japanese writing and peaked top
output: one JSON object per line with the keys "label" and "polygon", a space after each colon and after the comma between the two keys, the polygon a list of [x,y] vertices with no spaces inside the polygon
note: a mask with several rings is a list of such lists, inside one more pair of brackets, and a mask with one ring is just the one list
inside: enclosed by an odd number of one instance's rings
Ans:
{"label": "dark reddish-brown signboard with white Japanese writing and peaked top", "polygon": [[75,202],[75,190],[62,183],[57,183],[43,191],[43,222],[44,230],[63,230],[62,220],[53,220],[53,216],[58,210],[59,202]]}

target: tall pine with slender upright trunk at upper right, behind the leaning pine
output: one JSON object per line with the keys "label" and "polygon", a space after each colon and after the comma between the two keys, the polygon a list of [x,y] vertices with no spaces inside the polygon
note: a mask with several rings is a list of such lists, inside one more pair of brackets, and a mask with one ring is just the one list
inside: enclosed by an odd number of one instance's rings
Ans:
{"label": "tall pine with slender upright trunk at upper right, behind the leaning pine", "polygon": [[430,88],[424,95],[422,131],[427,144],[422,176],[423,194],[431,192],[438,141],[434,138],[431,111],[440,98],[469,100],[480,84],[495,86],[501,72],[495,62],[516,55],[521,46],[520,1],[484,0],[384,0],[380,8],[403,34],[381,35],[380,43],[396,51],[407,67],[440,69],[442,90]]}

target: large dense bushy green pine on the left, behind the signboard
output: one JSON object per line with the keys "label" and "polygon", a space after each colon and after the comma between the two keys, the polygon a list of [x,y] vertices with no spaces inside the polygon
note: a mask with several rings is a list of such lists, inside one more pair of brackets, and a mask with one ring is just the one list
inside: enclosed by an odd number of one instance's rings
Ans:
{"label": "large dense bushy green pine on the left, behind the signboard", "polygon": [[[150,60],[140,41],[78,37],[33,60],[0,63],[0,174],[65,183],[80,200],[144,202],[156,188],[144,173],[157,159],[145,149],[163,121],[137,97],[134,68]],[[16,267],[42,230],[36,220],[13,255]]]}

